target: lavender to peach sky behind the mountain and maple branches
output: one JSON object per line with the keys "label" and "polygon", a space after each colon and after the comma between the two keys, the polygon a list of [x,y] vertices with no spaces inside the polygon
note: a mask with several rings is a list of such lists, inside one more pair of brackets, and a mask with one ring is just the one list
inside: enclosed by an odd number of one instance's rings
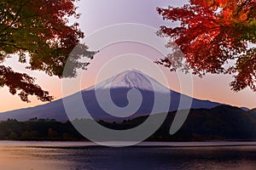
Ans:
{"label": "lavender to peach sky behind the mountain and maple branches", "polygon": [[[104,42],[106,38],[113,38],[118,35],[112,30],[111,35],[103,35],[101,39],[96,38],[96,41],[91,41],[97,34],[114,28],[117,24],[136,23],[157,31],[160,26],[175,26],[172,22],[163,21],[160,15],[157,14],[157,7],[167,7],[168,5],[180,6],[187,1],[148,1],[148,0],[81,0],[78,4],[78,12],[81,14],[79,20],[80,28],[84,31],[86,38],[83,40],[92,50],[97,50],[100,42]],[[73,21],[73,20],[71,20]],[[133,30],[126,30],[127,34]],[[147,35],[147,31],[143,32]],[[154,33],[148,36],[149,38],[156,37]],[[136,37],[135,37],[136,38]],[[113,40],[112,40],[113,41]],[[150,40],[149,40],[150,41]],[[160,45],[164,48],[166,40],[162,38]],[[95,44],[97,43],[98,44]],[[143,44],[141,42],[112,42],[105,44],[101,48],[100,53],[96,54],[91,60],[91,64],[87,71],[84,71],[81,79],[81,88],[88,88],[96,82],[112,77],[113,75],[125,71],[127,69],[137,69],[145,71],[150,77],[154,77],[157,81],[163,83],[168,88],[175,91],[188,94],[197,99],[209,99],[219,103],[228,105],[245,106],[250,109],[256,107],[256,95],[249,88],[241,92],[233,92],[230,90],[229,83],[232,81],[230,75],[207,75],[206,77],[192,77],[192,81],[188,85],[191,90],[183,89],[183,84],[179,83],[179,77],[175,72],[168,71],[160,65],[155,65],[154,60],[160,59],[162,53],[160,50]],[[137,57],[137,58],[136,58]],[[145,60],[152,61],[146,62]],[[62,81],[58,77],[49,77],[42,71],[27,71],[26,64],[17,62],[17,58],[7,59],[5,65],[11,65],[15,71],[26,72],[32,77],[36,77],[36,82],[49,93],[55,96],[55,99],[62,98]],[[145,62],[144,62],[145,61]],[[147,64],[146,64],[147,63]],[[151,66],[157,67],[162,71],[166,81],[150,71]],[[107,68],[107,69],[106,69]],[[181,73],[182,74],[182,73]],[[97,79],[97,77],[100,77]],[[183,75],[182,77],[187,77]],[[76,89],[70,94],[76,92]],[[9,94],[8,88],[0,88],[0,112],[12,111],[20,108],[32,107],[34,105],[42,105],[44,103],[38,101],[35,97],[31,97],[31,103],[24,103],[18,95]]]}

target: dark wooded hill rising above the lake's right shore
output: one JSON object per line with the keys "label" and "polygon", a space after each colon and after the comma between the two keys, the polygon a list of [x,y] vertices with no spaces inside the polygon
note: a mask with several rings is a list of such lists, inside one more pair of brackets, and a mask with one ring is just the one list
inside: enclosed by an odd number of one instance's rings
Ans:
{"label": "dark wooded hill rising above the lake's right shore", "polygon": [[[155,116],[158,116],[158,114]],[[256,139],[256,121],[247,111],[238,107],[220,105],[212,109],[192,109],[189,111],[189,116],[183,126],[177,133],[170,135],[169,130],[174,116],[175,112],[170,112],[166,121],[151,139],[175,141]],[[146,118],[144,116],[138,117],[130,123],[137,122],[137,124],[140,124]],[[116,129],[119,129],[119,127],[116,127]]]}

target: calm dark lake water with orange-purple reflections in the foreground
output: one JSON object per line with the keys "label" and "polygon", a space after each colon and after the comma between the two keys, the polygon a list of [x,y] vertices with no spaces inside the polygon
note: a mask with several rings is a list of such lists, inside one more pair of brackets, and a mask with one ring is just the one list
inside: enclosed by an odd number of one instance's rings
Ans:
{"label": "calm dark lake water with orange-purple reflections in the foreground", "polygon": [[0,169],[256,169],[256,143],[157,142],[109,148],[87,142],[0,141]]}

